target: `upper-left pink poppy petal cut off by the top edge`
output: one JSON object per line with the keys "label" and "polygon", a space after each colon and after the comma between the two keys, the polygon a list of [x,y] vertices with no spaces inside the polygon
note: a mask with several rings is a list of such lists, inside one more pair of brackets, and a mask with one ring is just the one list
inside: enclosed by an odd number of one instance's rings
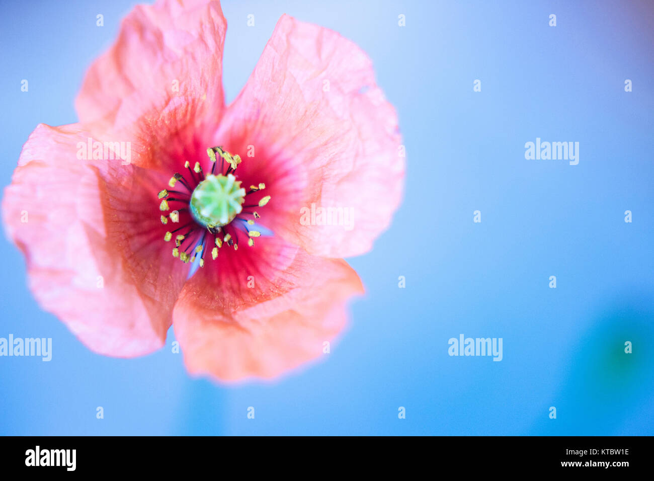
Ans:
{"label": "upper-left pink poppy petal cut off by the top edge", "polygon": [[131,141],[143,167],[188,152],[187,160],[206,158],[224,107],[226,28],[218,1],[138,5],[86,74],[76,101],[80,122],[105,139]]}

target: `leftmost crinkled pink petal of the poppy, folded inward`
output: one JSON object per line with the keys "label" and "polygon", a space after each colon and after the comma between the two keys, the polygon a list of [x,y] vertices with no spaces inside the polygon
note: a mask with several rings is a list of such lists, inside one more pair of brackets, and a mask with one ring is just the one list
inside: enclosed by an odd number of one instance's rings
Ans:
{"label": "leftmost crinkled pink petal of the poppy, folded inward", "polygon": [[80,124],[36,128],[5,189],[5,226],[45,310],[98,353],[143,355],[165,342],[186,273],[152,238],[159,179],[77,158],[89,135]]}

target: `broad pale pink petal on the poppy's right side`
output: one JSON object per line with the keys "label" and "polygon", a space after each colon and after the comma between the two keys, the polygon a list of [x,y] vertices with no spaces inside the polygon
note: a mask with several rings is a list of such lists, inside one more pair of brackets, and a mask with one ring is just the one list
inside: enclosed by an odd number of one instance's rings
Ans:
{"label": "broad pale pink petal on the poppy's right side", "polygon": [[368,56],[329,29],[284,15],[216,137],[269,188],[262,223],[309,253],[368,251],[400,203],[394,108]]}

